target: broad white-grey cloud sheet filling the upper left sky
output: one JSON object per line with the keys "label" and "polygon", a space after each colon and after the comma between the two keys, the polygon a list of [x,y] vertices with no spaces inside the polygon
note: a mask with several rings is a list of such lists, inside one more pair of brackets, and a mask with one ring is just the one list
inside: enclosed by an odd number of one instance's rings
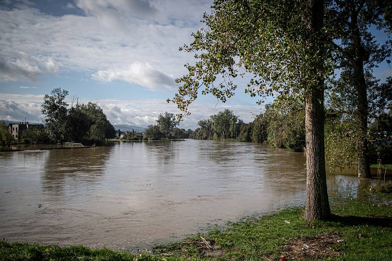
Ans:
{"label": "broad white-grey cloud sheet filling the upper left sky", "polygon": [[[84,71],[97,80],[116,76],[149,89],[156,89],[158,80],[163,80],[162,87],[172,86],[171,78],[185,72],[183,65],[191,57],[178,47],[191,42],[191,32],[201,25],[210,4],[210,0],[77,0],[68,5],[85,16],[51,16],[31,5],[2,9],[0,79],[34,81],[43,74]],[[127,65],[139,66],[141,75],[150,78],[129,72]]]}

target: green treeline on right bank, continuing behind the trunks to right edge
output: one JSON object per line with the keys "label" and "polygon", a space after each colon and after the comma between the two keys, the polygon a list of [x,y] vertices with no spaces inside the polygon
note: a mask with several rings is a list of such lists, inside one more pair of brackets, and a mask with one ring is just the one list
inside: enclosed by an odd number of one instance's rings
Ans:
{"label": "green treeline on right bank, continuing behind the trunks to right edge", "polygon": [[[325,111],[325,159],[330,168],[353,164],[357,153],[354,134],[357,126],[342,112]],[[305,113],[303,103],[275,100],[254,120],[244,123],[233,111],[225,109],[198,122],[190,138],[268,143],[294,152],[305,149]],[[374,116],[368,128],[370,162],[392,163],[392,111]]]}

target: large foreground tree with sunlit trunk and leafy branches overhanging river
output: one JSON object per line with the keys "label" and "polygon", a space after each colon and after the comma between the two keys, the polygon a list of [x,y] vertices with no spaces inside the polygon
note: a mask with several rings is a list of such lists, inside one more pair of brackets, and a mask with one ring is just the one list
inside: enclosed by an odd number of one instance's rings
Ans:
{"label": "large foreground tree with sunlit trunk and leafy branches overhanging river", "polygon": [[[251,75],[250,96],[300,99],[305,108],[307,193],[305,218],[327,218],[324,157],[324,87],[332,73],[326,56],[323,0],[215,0],[205,27],[180,50],[196,64],[172,100],[187,115],[197,95],[211,93],[225,102],[234,95],[234,78]],[[260,101],[261,102],[261,101]]]}

